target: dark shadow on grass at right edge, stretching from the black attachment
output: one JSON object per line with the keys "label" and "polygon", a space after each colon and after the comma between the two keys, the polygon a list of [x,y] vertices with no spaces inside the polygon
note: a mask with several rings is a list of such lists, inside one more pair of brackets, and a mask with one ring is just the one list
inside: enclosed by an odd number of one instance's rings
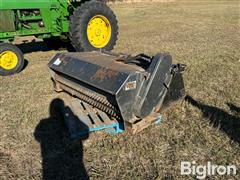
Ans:
{"label": "dark shadow on grass at right edge, stretching from the black attachment", "polygon": [[[231,140],[240,144],[240,117],[231,115],[218,107],[208,106],[198,102],[191,96],[186,96],[185,100],[201,110],[203,117],[208,118],[213,127],[219,128],[226,133]],[[240,108],[233,104],[227,103],[227,105],[231,111],[240,111]]]}

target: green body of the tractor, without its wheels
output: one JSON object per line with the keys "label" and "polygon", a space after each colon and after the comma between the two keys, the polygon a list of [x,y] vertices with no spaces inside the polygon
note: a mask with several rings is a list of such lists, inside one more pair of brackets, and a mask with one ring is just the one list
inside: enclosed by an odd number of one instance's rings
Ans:
{"label": "green body of the tractor, without its wheels", "polygon": [[0,40],[29,35],[49,38],[68,32],[66,0],[4,0],[0,4]]}

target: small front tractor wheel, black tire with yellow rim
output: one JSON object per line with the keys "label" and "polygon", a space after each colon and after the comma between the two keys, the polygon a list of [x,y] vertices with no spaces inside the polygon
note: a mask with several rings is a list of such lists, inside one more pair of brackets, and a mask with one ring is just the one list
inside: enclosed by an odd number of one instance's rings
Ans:
{"label": "small front tractor wheel, black tire with yellow rim", "polygon": [[0,75],[16,74],[23,69],[24,57],[22,51],[9,43],[0,44]]}

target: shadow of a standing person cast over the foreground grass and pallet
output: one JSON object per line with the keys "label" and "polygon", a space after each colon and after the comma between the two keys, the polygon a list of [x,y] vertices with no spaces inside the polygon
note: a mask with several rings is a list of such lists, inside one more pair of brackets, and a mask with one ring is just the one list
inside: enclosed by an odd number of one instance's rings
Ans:
{"label": "shadow of a standing person cast over the foreground grass and pallet", "polygon": [[88,135],[75,142],[70,139],[62,108],[68,107],[61,99],[54,99],[50,104],[50,117],[42,119],[35,129],[34,136],[41,145],[42,179],[89,179],[83,163],[82,144]]}

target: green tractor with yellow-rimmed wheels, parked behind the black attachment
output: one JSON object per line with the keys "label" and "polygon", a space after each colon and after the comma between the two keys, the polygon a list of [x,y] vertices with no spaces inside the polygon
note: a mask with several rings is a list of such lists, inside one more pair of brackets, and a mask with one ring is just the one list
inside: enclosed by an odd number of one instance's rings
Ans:
{"label": "green tractor with yellow-rimmed wheels, parked behind the black attachment", "polygon": [[49,46],[69,41],[76,51],[111,51],[118,35],[113,11],[100,0],[0,0],[0,75],[21,71],[17,36],[35,36]]}

